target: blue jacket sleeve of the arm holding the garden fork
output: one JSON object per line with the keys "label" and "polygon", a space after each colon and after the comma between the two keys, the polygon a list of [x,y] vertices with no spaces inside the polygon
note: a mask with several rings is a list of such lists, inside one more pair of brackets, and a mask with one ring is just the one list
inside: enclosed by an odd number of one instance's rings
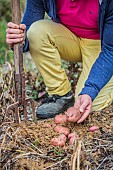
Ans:
{"label": "blue jacket sleeve of the arm holding the garden fork", "polygon": [[[21,23],[26,25],[26,31],[27,31],[33,22],[43,19],[44,15],[45,15],[45,9],[42,0],[27,0],[26,10]],[[28,50],[29,50],[29,42],[26,37],[23,51],[26,52]]]}

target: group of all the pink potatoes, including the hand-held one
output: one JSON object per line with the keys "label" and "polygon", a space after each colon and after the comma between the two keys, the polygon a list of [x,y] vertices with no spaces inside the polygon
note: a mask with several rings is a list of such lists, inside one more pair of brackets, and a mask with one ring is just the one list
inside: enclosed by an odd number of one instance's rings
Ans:
{"label": "group of all the pink potatoes, including the hand-held one", "polygon": [[[58,137],[52,138],[50,141],[50,144],[53,146],[65,146],[66,140],[69,140],[69,144],[73,145],[75,140],[79,139],[76,132],[70,133],[70,129],[67,127],[64,127],[60,124],[66,123],[66,122],[77,122],[82,116],[82,113],[80,112],[79,105],[76,105],[74,107],[70,107],[65,115],[57,115],[54,119],[55,126],[53,127],[54,131],[59,134]],[[89,131],[94,132],[98,130],[98,126],[92,126]]]}

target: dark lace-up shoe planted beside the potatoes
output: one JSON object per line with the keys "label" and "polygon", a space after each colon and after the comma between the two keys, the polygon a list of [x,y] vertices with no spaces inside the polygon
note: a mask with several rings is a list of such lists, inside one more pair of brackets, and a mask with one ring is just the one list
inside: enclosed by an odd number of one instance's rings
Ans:
{"label": "dark lace-up shoe planted beside the potatoes", "polygon": [[73,105],[74,96],[71,91],[64,96],[49,96],[47,100],[37,108],[36,116],[41,119],[53,118],[57,114],[65,112]]}

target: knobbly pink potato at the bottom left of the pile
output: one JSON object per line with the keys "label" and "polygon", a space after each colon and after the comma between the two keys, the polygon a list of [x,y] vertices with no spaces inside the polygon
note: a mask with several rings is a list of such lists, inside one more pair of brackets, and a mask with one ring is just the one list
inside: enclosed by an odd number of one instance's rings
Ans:
{"label": "knobbly pink potato at the bottom left of the pile", "polygon": [[57,138],[52,138],[50,144],[53,146],[64,146],[66,142],[66,136],[64,134]]}

